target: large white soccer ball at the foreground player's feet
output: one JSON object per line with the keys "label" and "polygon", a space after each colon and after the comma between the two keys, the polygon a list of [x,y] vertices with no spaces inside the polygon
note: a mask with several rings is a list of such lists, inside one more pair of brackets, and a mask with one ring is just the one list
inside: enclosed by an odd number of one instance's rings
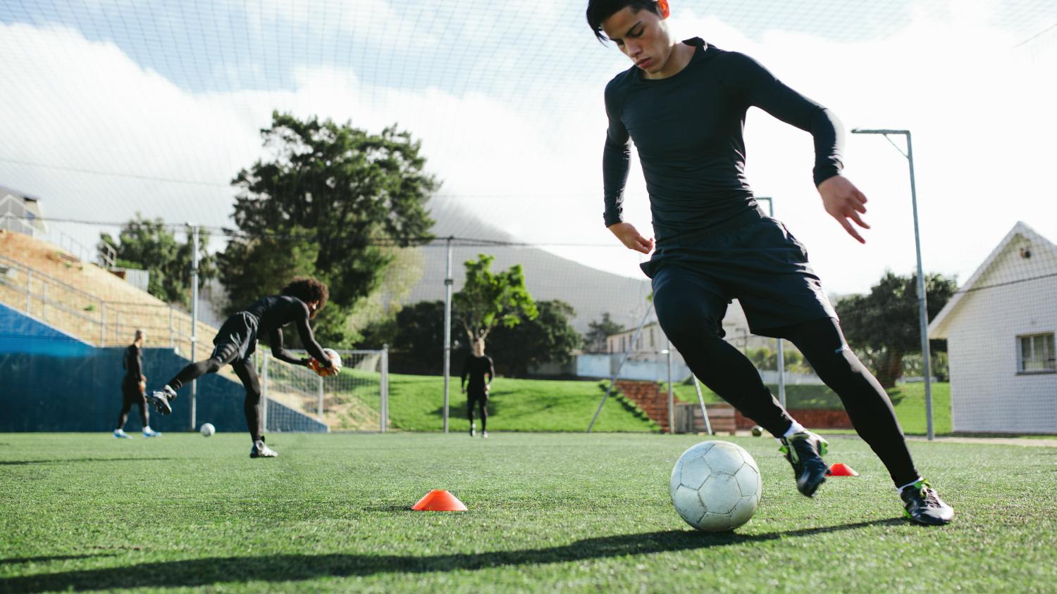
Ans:
{"label": "large white soccer ball at the foreground player's feet", "polygon": [[756,460],[740,445],[704,441],[671,470],[671,502],[686,523],[725,532],[747,522],[760,504],[763,481]]}

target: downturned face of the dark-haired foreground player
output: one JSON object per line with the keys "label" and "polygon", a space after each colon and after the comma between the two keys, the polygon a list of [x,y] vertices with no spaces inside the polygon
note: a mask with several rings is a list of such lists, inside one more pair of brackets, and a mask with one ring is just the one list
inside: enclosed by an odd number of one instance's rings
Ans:
{"label": "downturned face of the dark-haired foreground player", "polygon": [[[667,5],[662,7],[662,15]],[[625,6],[601,22],[602,33],[624,55],[642,69],[647,78],[663,73],[672,54],[671,34],[665,18],[652,11],[635,12]]]}

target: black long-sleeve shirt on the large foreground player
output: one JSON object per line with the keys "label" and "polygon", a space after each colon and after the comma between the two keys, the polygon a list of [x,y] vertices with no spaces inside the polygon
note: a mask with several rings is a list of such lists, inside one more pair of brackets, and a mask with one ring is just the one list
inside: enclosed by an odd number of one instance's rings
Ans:
{"label": "black long-sleeve shirt on the large foreground player", "polygon": [[632,66],[606,85],[607,227],[623,221],[629,139],[643,165],[659,244],[756,208],[742,138],[745,112],[753,106],[811,133],[816,186],[840,173],[843,132],[829,110],[748,56],[697,37],[684,43],[694,46],[694,54],[675,75],[646,79]]}

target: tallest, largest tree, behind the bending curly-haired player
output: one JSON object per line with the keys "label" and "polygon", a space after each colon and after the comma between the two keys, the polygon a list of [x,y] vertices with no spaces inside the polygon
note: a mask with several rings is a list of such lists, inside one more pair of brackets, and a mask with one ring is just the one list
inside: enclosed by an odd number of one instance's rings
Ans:
{"label": "tallest, largest tree, behind the bending curly-haired player", "polygon": [[[421,142],[395,127],[372,134],[351,122],[275,112],[261,136],[270,158],[231,181],[239,232],[224,257],[225,288],[233,303],[248,303],[290,280],[270,274],[319,279],[331,299],[316,326],[341,345],[354,334],[347,327],[351,308],[377,287],[391,247],[429,235],[426,204],[440,184],[425,172]],[[281,262],[264,264],[270,253]]]}

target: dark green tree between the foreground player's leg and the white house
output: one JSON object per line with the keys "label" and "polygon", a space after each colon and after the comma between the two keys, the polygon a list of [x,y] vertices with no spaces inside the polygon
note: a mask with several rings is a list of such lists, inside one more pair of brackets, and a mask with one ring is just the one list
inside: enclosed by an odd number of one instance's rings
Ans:
{"label": "dark green tree between the foreground player's leg and the white house", "polygon": [[[958,280],[942,274],[925,277],[928,319],[932,320],[958,291]],[[889,388],[903,377],[903,358],[920,353],[917,275],[885,272],[865,295],[850,295],[836,304],[848,344],[873,370],[880,385]],[[944,341],[933,341],[945,349]]]}

